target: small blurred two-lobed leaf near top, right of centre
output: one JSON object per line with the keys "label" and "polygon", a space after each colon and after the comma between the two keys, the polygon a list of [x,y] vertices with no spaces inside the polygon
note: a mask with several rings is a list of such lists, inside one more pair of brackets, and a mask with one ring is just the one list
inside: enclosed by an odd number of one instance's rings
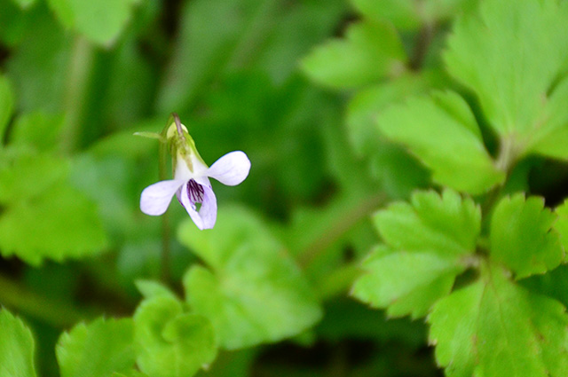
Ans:
{"label": "small blurred two-lobed leaf near top, right of centre", "polygon": [[362,21],[344,39],[319,46],[302,67],[312,80],[332,88],[355,88],[405,70],[406,54],[388,23]]}

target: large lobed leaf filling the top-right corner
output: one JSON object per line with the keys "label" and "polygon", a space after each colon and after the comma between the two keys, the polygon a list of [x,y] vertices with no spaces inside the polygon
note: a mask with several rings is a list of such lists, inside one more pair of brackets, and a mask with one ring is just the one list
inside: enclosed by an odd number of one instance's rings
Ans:
{"label": "large lobed leaf filling the top-right corner", "polygon": [[568,58],[567,13],[555,0],[483,1],[448,40],[448,70],[476,92],[491,127],[519,148],[550,122],[548,101],[556,106],[548,91]]}

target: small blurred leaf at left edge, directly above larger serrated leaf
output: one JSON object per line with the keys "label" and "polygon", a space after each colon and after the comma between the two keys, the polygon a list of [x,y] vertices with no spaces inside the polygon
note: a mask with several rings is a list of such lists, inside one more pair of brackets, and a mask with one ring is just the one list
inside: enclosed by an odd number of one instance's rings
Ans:
{"label": "small blurred leaf at left edge, directly above larger serrated leaf", "polygon": [[69,161],[26,148],[0,150],[0,202],[32,199],[67,176]]}

